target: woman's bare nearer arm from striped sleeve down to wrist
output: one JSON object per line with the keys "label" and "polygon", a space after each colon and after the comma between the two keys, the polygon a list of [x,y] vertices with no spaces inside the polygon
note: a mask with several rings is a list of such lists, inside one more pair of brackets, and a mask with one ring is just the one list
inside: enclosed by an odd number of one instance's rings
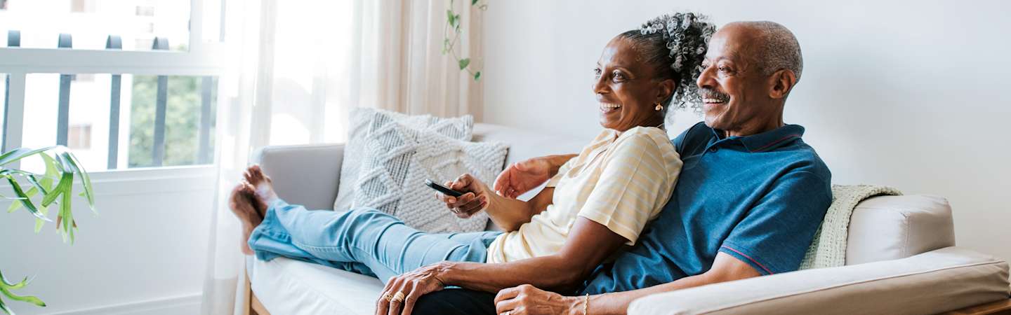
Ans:
{"label": "woman's bare nearer arm from striped sleeve down to wrist", "polygon": [[444,285],[485,292],[523,284],[571,289],[627,240],[607,226],[577,217],[565,244],[555,254],[505,264],[444,261],[435,277]]}

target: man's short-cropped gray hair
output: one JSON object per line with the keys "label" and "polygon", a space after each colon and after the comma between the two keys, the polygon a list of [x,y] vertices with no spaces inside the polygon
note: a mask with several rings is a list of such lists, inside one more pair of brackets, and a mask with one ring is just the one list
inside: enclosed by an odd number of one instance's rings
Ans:
{"label": "man's short-cropped gray hair", "polygon": [[801,55],[801,44],[797,37],[786,26],[772,21],[739,22],[744,26],[758,31],[761,46],[757,49],[755,59],[763,75],[786,69],[794,72],[797,80],[801,80],[804,71],[804,57]]}

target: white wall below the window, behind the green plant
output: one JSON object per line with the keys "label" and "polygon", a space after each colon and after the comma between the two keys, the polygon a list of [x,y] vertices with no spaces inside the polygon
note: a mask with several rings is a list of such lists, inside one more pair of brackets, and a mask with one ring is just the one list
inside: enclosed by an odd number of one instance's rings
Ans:
{"label": "white wall below the window, behind the green plant", "polygon": [[[10,202],[0,202],[0,270],[11,281],[34,276],[15,293],[37,296],[48,307],[6,300],[8,305],[18,314],[198,313],[214,172],[92,174],[98,215],[83,198],[75,200],[73,245],[61,240],[54,223],[33,233],[27,211],[5,213]],[[7,191],[2,194],[11,196]]]}

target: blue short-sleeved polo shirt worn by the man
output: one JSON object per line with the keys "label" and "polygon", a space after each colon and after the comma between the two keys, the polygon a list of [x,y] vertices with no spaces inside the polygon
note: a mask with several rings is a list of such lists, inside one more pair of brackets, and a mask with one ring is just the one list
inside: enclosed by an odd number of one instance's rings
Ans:
{"label": "blue short-sleeved polo shirt worn by the man", "polygon": [[785,125],[724,137],[700,122],[673,139],[684,165],[639,242],[599,267],[579,294],[652,287],[700,275],[717,252],[762,275],[796,271],[832,202],[831,173]]}

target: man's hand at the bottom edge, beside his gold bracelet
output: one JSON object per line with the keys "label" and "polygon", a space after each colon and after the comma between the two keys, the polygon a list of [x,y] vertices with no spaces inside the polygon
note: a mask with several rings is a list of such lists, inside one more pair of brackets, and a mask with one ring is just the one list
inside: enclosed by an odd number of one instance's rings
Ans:
{"label": "man's hand at the bottom edge, beside his gold bracelet", "polygon": [[[563,297],[554,292],[522,285],[498,291],[495,295],[495,313],[510,315],[527,314],[579,314],[583,300],[578,297]],[[579,313],[577,313],[578,311]]]}

